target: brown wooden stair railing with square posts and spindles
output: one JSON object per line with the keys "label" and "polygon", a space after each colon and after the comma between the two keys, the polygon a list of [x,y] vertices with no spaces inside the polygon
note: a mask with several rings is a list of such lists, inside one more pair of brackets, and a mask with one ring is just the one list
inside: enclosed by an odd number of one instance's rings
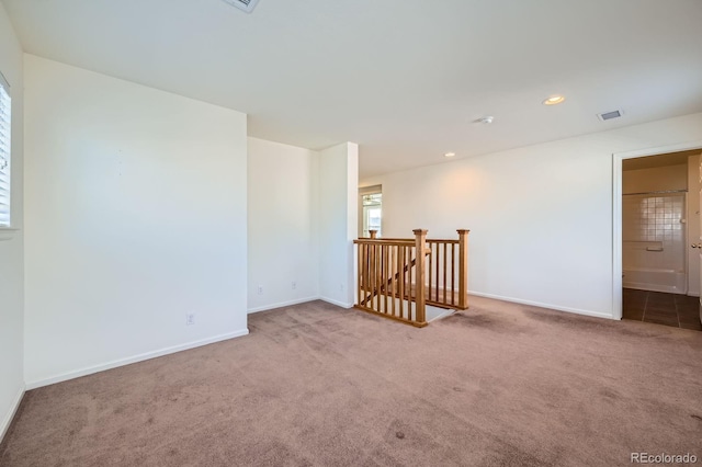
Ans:
{"label": "brown wooden stair railing with square posts and spindles", "polygon": [[458,230],[457,240],[414,232],[414,239],[378,239],[371,230],[371,238],[354,240],[355,308],[416,327],[427,326],[426,305],[467,309],[468,230]]}

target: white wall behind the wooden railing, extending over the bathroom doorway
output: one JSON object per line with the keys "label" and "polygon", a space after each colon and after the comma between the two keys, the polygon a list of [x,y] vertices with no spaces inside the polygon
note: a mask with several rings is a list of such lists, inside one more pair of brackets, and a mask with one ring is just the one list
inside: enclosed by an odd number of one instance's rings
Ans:
{"label": "white wall behind the wooden railing, extending over the bathroom doorway", "polygon": [[[469,289],[613,316],[612,153],[702,140],[687,115],[364,180],[384,234],[471,229]],[[665,152],[665,151],[661,151]]]}

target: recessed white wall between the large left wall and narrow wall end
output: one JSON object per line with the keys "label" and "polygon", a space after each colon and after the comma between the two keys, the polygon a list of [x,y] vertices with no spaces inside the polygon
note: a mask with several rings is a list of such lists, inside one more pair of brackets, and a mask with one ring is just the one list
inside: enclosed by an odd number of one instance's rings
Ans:
{"label": "recessed white wall between the large left wall and narrow wall end", "polygon": [[249,312],[318,298],[319,153],[257,138],[248,151]]}

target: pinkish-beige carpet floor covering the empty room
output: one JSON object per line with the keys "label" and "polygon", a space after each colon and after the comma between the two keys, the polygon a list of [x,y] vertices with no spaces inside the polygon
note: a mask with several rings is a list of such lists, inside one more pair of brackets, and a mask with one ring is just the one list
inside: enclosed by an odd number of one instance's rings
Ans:
{"label": "pinkish-beige carpet floor covering the empty room", "polygon": [[321,301],[249,318],[248,337],[29,391],[0,465],[702,457],[699,331],[485,298],[424,329]]}

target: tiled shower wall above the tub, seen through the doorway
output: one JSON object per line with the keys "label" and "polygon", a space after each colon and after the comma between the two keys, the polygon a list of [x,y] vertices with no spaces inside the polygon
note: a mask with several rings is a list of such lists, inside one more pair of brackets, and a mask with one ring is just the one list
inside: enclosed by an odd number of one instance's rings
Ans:
{"label": "tiled shower wall above the tub, seen through the doorway", "polygon": [[624,270],[684,271],[684,193],[624,195]]}

